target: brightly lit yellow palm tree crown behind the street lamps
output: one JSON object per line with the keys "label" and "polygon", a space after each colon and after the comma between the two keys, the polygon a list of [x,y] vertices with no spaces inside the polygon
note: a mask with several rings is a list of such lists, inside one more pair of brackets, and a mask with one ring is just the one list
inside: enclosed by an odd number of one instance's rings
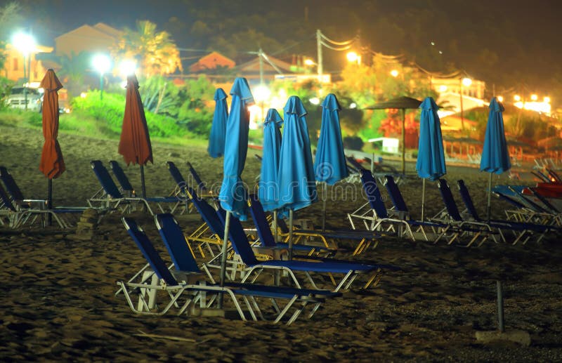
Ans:
{"label": "brightly lit yellow palm tree crown behind the street lamps", "polygon": [[136,30],[125,28],[111,53],[117,59],[134,58],[147,77],[182,70],[180,53],[170,34],[157,32],[156,24],[148,20],[136,22]]}

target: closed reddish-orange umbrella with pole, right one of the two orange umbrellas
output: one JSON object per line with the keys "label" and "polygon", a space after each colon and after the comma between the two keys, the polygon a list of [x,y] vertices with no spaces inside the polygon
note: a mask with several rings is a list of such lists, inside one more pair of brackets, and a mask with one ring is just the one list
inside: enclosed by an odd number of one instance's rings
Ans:
{"label": "closed reddish-orange umbrella with pole, right one of the two orange umbrellas", "polygon": [[141,95],[138,93],[138,81],[132,74],[127,77],[127,94],[125,102],[125,116],[119,140],[119,154],[127,165],[139,164],[141,166],[141,185],[143,198],[146,197],[144,168],[148,161],[152,161],[152,145],[146,125],[145,110]]}

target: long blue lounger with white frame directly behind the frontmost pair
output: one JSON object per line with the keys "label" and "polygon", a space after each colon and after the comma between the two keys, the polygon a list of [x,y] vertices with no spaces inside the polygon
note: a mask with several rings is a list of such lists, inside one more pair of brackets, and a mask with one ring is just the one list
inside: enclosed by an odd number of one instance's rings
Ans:
{"label": "long blue lounger with white frame directly behind the frontmost pair", "polygon": [[[218,209],[217,214],[221,221],[226,221],[226,211]],[[306,277],[306,281],[313,287],[319,289],[313,273],[320,276],[327,276],[332,281],[334,289],[332,291],[340,291],[341,289],[349,289],[351,284],[359,275],[367,275],[367,282],[363,284],[362,288],[367,289],[370,286],[375,286],[379,283],[382,275],[387,270],[400,270],[392,265],[367,265],[363,263],[355,263],[354,261],[336,260],[330,261],[327,259],[314,259],[314,260],[264,260],[260,261],[256,258],[254,251],[247,239],[244,228],[240,220],[234,216],[230,216],[230,229],[229,240],[235,253],[244,264],[244,278],[242,282],[256,282],[256,279],[261,275],[261,272],[268,270],[270,272],[282,271],[292,280],[292,283],[297,288],[301,288],[299,279],[296,278],[295,272],[302,273]],[[336,282],[334,275],[344,275],[339,282]]]}

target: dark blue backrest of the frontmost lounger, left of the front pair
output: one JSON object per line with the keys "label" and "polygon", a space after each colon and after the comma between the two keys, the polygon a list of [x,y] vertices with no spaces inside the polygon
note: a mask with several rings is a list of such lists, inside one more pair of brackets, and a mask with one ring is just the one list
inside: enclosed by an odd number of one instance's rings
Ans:
{"label": "dark blue backrest of the frontmost lounger, left of the front pair", "polygon": [[166,264],[152,245],[152,242],[150,242],[150,239],[148,239],[145,231],[131,218],[124,217],[122,221],[127,232],[133,238],[133,241],[138,246],[138,249],[141,250],[148,263],[150,263],[150,267],[154,270],[157,277],[163,279],[169,286],[176,286],[178,282],[171,275],[170,270],[166,268]]}

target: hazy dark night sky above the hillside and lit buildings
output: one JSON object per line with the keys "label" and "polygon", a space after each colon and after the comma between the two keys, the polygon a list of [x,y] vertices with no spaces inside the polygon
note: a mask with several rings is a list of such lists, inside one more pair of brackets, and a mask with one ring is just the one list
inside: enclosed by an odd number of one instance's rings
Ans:
{"label": "hazy dark night sky above the hillside and lit buildings", "polygon": [[[290,42],[301,42],[294,51],[308,49],[307,53],[315,55],[315,29],[335,40],[360,32],[362,44],[373,51],[407,54],[407,59],[432,70],[455,64],[457,69],[505,88],[525,84],[530,91],[562,90],[558,34],[562,1],[556,0],[23,0],[20,4],[25,8],[25,25],[44,44],[84,24],[105,22],[134,28],[136,20],[150,20],[159,30],[171,32],[180,48],[221,51],[207,39],[193,37],[193,23],[203,20],[211,29],[209,39],[221,30],[235,32],[255,26],[257,32],[276,40],[260,45],[249,42],[244,51],[263,46],[275,54]],[[250,15],[259,19],[266,13],[270,15],[265,25],[249,21]],[[176,17],[174,23],[172,17]],[[246,18],[237,24],[240,29],[221,27],[241,17]],[[228,34],[221,36],[228,42]],[[331,55],[327,52],[325,56]]]}

